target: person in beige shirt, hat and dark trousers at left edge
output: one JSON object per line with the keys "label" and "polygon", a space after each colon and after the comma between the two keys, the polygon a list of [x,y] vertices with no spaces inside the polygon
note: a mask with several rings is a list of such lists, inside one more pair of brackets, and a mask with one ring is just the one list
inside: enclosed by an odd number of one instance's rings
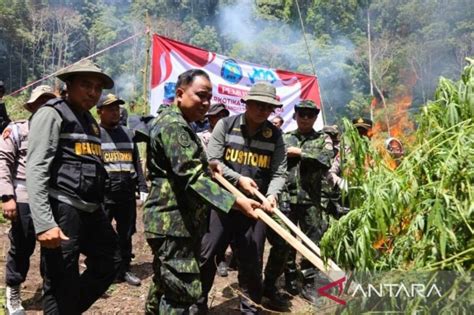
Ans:
{"label": "person in beige shirt, hat and dark trousers at left edge", "polygon": [[[51,87],[40,85],[31,93],[24,107],[34,114],[48,100],[55,98]],[[5,266],[6,309],[8,314],[24,314],[20,287],[30,267],[30,256],[36,243],[26,192],[26,152],[29,120],[10,123],[0,137],[0,191],[3,216],[12,221],[8,234],[10,250]]]}

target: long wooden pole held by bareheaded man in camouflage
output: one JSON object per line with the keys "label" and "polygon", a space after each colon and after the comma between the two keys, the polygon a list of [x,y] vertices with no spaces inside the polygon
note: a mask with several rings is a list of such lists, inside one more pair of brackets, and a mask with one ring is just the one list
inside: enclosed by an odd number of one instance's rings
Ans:
{"label": "long wooden pole held by bareheaded man in camouflage", "polygon": [[[238,190],[234,185],[229,183],[222,175],[219,173],[214,173],[214,178],[222,184],[227,190],[229,190],[236,197],[245,197],[245,195]],[[262,209],[255,209],[258,217],[265,222],[272,230],[274,230],[278,235],[280,235],[285,241],[288,242],[294,249],[296,249],[301,255],[308,259],[316,268],[321,270],[329,279],[332,281],[339,280],[344,274],[336,270],[328,270],[324,265],[324,262],[316,256],[311,250],[309,250],[303,243],[298,241],[296,237],[291,235],[290,232],[282,228],[275,220],[273,220],[268,214],[266,214]]]}

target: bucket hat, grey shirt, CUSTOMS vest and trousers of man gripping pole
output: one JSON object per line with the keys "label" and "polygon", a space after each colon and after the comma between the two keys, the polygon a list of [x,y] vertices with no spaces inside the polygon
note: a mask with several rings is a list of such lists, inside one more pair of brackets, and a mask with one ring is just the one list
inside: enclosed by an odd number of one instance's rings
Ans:
{"label": "bucket hat, grey shirt, CUSTOMS vest and trousers of man gripping pole", "polygon": [[[263,97],[262,97],[263,96]],[[276,101],[275,88],[266,83],[252,87],[243,101],[256,100],[281,106]],[[286,179],[286,154],[281,131],[268,120],[254,135],[250,135],[245,113],[221,119],[215,126],[208,144],[209,160],[223,163],[223,174],[233,184],[240,176],[252,178],[265,195],[278,196]],[[238,257],[239,284],[250,297],[241,299],[241,312],[255,313],[253,303],[262,299],[262,268],[265,244],[265,224],[232,211],[228,216],[211,212],[209,231],[203,238],[201,273],[203,298],[212,287],[216,266],[214,256],[223,255],[234,237]]]}

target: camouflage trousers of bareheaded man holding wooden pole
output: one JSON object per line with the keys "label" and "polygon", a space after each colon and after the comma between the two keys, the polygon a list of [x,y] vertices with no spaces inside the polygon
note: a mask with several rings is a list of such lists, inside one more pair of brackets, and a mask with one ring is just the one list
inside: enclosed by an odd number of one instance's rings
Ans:
{"label": "camouflage trousers of bareheaded man holding wooden pole", "polygon": [[153,252],[153,279],[146,314],[195,314],[202,294],[199,273],[200,238],[147,239]]}

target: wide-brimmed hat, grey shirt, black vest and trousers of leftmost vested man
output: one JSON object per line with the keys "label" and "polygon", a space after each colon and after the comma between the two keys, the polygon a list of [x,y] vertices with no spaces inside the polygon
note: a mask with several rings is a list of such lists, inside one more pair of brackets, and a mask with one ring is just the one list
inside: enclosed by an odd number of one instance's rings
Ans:
{"label": "wide-brimmed hat, grey shirt, black vest and trousers of leftmost vested man", "polygon": [[[113,81],[90,61],[58,77],[96,75],[105,88]],[[106,79],[104,79],[106,77]],[[32,118],[27,188],[36,233],[59,227],[69,240],[41,248],[45,313],[80,314],[109,287],[120,266],[117,235],[103,211],[106,172],[100,128],[89,111],[54,99]],[[79,274],[79,254],[87,269]]]}

